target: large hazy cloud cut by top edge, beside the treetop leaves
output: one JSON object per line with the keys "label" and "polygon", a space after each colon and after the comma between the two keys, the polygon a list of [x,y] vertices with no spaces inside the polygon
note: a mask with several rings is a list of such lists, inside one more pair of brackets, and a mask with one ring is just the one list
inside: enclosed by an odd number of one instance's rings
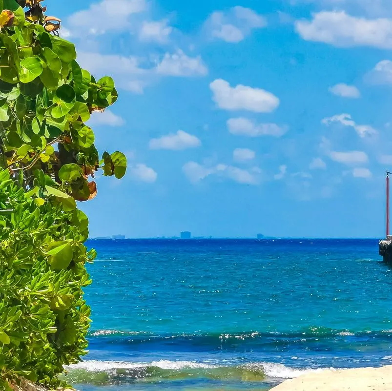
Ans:
{"label": "large hazy cloud cut by top edge, beside the treetop leaves", "polygon": [[73,13],[67,20],[71,35],[99,36],[106,32],[130,28],[129,17],[146,10],[145,0],[102,0],[93,2],[88,9]]}

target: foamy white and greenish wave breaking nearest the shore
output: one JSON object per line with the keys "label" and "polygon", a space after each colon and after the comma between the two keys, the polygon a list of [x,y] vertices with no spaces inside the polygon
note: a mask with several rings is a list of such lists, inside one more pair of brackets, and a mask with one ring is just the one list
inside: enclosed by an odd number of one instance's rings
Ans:
{"label": "foamy white and greenish wave breaking nearest the shore", "polygon": [[64,379],[76,384],[109,385],[124,382],[155,382],[207,378],[262,382],[268,379],[289,379],[323,369],[295,369],[282,364],[255,362],[224,366],[208,362],[160,360],[150,363],[86,360],[65,368]]}

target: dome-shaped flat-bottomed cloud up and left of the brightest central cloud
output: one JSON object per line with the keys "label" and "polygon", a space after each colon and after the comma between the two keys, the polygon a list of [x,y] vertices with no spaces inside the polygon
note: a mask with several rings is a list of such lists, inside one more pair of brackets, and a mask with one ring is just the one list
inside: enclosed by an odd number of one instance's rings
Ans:
{"label": "dome-shaped flat-bottomed cloud up and left of the brightest central cloud", "polygon": [[188,57],[182,50],[166,53],[162,62],[157,65],[158,74],[167,76],[206,76],[208,70],[201,56]]}

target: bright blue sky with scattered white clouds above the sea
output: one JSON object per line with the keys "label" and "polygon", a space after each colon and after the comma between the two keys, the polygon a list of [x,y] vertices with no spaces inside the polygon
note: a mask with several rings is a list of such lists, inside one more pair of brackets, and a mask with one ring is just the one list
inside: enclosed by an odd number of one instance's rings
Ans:
{"label": "bright blue sky with scattered white clouds above the sea", "polygon": [[90,236],[383,237],[391,0],[47,1],[119,100]]}

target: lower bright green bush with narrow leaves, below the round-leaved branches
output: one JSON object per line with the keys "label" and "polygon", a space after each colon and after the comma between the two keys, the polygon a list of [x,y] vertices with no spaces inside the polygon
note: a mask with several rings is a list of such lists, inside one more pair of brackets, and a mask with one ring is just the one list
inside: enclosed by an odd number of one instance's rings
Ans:
{"label": "lower bright green bush with narrow leaves, below the round-leaved branches", "polygon": [[49,194],[37,202],[9,177],[0,171],[0,389],[17,376],[55,386],[87,347],[82,288],[95,251],[83,246],[82,211],[64,211]]}

